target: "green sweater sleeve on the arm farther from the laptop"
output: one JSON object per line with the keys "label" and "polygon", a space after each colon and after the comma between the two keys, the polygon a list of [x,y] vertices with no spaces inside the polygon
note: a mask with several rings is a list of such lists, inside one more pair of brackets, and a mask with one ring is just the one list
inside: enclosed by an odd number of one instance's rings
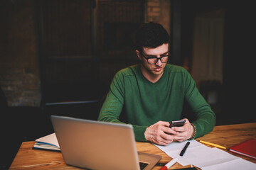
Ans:
{"label": "green sweater sleeve on the arm farther from the laptop", "polygon": [[193,125],[196,126],[196,135],[194,138],[206,135],[212,131],[215,126],[215,113],[211,110],[209,104],[196,88],[196,82],[191,74],[185,71],[184,75],[185,98],[191,106],[193,113],[196,114],[196,120]]}

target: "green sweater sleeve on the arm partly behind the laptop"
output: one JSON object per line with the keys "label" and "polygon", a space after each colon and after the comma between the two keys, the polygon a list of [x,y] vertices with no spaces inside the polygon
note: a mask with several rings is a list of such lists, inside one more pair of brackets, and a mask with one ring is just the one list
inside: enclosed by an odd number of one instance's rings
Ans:
{"label": "green sweater sleeve on the arm partly behind the laptop", "polygon": [[[124,123],[119,118],[124,106],[124,92],[124,75],[119,72],[114,76],[110,84],[110,91],[102,105],[98,120],[111,123]],[[135,140],[146,141],[144,132],[147,127],[143,125],[132,125],[132,127]]]}

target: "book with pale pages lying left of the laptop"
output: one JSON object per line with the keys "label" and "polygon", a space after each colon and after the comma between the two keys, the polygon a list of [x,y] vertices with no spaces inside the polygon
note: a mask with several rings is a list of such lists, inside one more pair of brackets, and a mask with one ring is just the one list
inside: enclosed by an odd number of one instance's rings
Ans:
{"label": "book with pale pages lying left of the laptop", "polygon": [[60,145],[58,144],[55,133],[38,138],[33,149],[48,149],[54,151],[60,151]]}

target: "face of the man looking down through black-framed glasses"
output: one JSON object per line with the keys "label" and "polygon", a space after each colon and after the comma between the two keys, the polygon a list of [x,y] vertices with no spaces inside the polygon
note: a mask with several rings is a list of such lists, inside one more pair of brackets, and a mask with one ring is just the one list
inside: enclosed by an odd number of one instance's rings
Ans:
{"label": "face of the man looking down through black-framed glasses", "polygon": [[137,56],[139,57],[139,60],[142,60],[142,73],[144,74],[144,76],[145,77],[146,76],[161,77],[161,75],[164,73],[164,67],[166,67],[166,63],[163,63],[164,58],[162,59],[163,62],[161,62],[161,60],[158,60],[155,64],[149,64],[146,58],[149,58],[149,57],[159,58],[159,57],[169,55],[169,44],[166,43],[156,48],[143,47],[142,54],[139,51],[136,51],[136,52],[137,52]]}

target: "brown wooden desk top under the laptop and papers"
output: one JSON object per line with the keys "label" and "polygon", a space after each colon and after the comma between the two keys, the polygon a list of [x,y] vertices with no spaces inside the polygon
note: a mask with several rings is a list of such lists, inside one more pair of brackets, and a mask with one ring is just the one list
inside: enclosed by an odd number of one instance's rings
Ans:
{"label": "brown wooden desk top under the laptop and papers", "polygon": [[[252,137],[256,138],[256,123],[215,126],[212,132],[196,140],[205,140],[229,148]],[[22,143],[10,169],[78,169],[77,167],[66,165],[60,152],[32,149],[33,144],[33,141]],[[171,160],[171,157],[149,142],[137,142],[137,150],[138,152],[161,155],[162,159],[159,161],[161,163],[167,163]],[[233,153],[230,152],[230,154]],[[256,159],[243,157],[239,154],[234,155],[256,163]],[[171,169],[181,167],[188,166],[181,166],[176,163],[174,166],[171,166]],[[159,168],[160,166],[154,167],[154,169]]]}

